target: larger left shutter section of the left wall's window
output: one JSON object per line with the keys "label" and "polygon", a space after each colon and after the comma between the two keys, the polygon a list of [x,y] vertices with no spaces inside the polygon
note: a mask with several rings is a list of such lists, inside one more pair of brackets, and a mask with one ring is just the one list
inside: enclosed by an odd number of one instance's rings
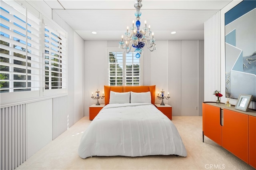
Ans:
{"label": "larger left shutter section of the left wall's window", "polygon": [[0,92],[40,89],[40,20],[1,1]]}

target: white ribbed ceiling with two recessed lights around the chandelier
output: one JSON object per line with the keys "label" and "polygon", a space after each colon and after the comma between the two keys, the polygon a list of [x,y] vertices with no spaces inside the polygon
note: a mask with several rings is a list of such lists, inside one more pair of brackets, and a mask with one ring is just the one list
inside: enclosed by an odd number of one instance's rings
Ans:
{"label": "white ribbed ceiling with two recessed lights around the chandelier", "polygon": [[[31,0],[28,0],[31,1]],[[42,1],[42,0],[41,0]],[[232,0],[142,0],[141,27],[156,40],[204,39],[204,22]],[[119,40],[136,20],[134,0],[43,0],[84,40]],[[92,34],[96,31],[97,34]],[[170,34],[176,31],[176,34]]]}

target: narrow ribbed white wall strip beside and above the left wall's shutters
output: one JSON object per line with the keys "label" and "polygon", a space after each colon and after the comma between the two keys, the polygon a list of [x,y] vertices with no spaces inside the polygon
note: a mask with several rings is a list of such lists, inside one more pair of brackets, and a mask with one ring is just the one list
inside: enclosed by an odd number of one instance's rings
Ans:
{"label": "narrow ribbed white wall strip beside and above the left wall's shutters", "polygon": [[[64,105],[67,105],[68,113],[68,128],[74,125],[74,30],[60,18],[54,10],[52,11],[52,20],[60,25],[66,32],[68,32],[68,49],[67,49],[67,89],[68,99]],[[82,74],[83,75],[83,74]]]}

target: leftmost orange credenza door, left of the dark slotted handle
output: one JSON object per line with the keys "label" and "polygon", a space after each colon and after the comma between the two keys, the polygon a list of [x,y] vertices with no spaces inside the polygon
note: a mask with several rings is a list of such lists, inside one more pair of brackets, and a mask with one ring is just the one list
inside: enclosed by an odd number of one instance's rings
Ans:
{"label": "leftmost orange credenza door, left of the dark slotted handle", "polygon": [[203,108],[204,135],[221,146],[222,127],[220,125],[220,107],[204,104]]}

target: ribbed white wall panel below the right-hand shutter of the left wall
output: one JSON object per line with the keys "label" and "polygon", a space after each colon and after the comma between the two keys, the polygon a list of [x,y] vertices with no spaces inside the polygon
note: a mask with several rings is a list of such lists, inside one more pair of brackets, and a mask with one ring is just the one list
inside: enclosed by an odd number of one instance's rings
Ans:
{"label": "ribbed white wall panel below the right-hand shutter of the left wall", "polygon": [[52,140],[57,138],[60,134],[65,132],[69,127],[69,114],[68,114],[68,101],[67,96],[56,97],[53,99],[53,115],[52,115]]}

